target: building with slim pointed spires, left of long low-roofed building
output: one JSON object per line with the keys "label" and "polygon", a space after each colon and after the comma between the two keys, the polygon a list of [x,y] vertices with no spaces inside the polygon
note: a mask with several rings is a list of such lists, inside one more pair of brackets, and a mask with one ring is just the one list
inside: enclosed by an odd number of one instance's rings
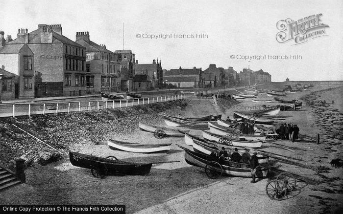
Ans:
{"label": "building with slim pointed spires, left of long low-roofed building", "polygon": [[135,64],[135,74],[146,74],[149,77],[149,80],[152,83],[153,88],[161,88],[163,83],[163,69],[160,63],[156,63],[156,60],[152,61],[152,64],[138,64],[138,60]]}

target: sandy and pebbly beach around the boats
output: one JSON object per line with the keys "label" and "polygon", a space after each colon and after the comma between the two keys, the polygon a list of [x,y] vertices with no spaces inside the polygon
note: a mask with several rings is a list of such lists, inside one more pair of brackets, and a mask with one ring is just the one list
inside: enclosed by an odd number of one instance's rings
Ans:
{"label": "sandy and pebbly beach around the boats", "polygon": [[[71,165],[69,157],[42,166],[34,163],[26,169],[26,183],[0,194],[0,204],[9,205],[87,205],[87,204],[123,204],[126,213],[342,213],[342,168],[333,168],[333,158],[343,159],[342,153],[342,95],[343,87],[315,85],[313,88],[288,94],[284,99],[303,102],[299,111],[280,111],[274,125],[293,123],[300,129],[300,134],[315,137],[320,134],[320,144],[277,141],[278,144],[300,148],[288,151],[263,144],[263,150],[301,157],[303,163],[312,169],[278,163],[273,166],[308,176],[315,179],[331,179],[332,184],[306,184],[299,181],[297,188],[282,201],[271,200],[265,191],[271,178],[250,183],[251,178],[221,177],[210,179],[204,169],[185,162],[184,151],[176,146],[189,149],[182,137],[156,139],[152,133],[139,130],[138,122],[165,126],[159,114],[200,117],[209,114],[222,114],[222,118],[233,115],[233,111],[249,108],[258,109],[261,104],[244,101],[229,106],[219,100],[216,105],[212,99],[193,98],[174,104],[153,104],[147,107],[127,107],[121,110],[101,110],[100,112],[72,113],[33,116],[31,119],[17,118],[16,122],[31,133],[40,136],[47,143],[59,144],[66,150],[78,150],[81,153],[101,157],[114,155],[125,161],[179,161],[175,163],[154,164],[147,176],[106,176],[98,179],[90,170]],[[267,86],[266,86],[267,87]],[[323,106],[309,106],[306,100],[322,100]],[[273,99],[259,95],[258,99]],[[334,101],[334,104],[332,104]],[[276,101],[268,105],[277,105]],[[252,109],[254,110],[254,109]],[[94,113],[94,114],[93,114]],[[67,120],[68,118],[68,120]],[[82,123],[80,123],[82,120]],[[10,127],[12,119],[1,119],[1,155],[2,163],[13,164],[13,157],[23,154],[36,157],[39,150],[46,150],[44,145]],[[78,125],[76,125],[78,124]],[[81,128],[81,126],[84,126]],[[73,128],[73,126],[75,126]],[[191,134],[200,135],[199,130]],[[15,137],[17,140],[14,140]],[[141,154],[119,150],[110,150],[106,139],[113,138],[132,143],[157,144],[172,143],[168,153]],[[22,147],[21,150],[13,150]],[[39,147],[36,150],[36,146]],[[339,178],[338,178],[339,177]]]}

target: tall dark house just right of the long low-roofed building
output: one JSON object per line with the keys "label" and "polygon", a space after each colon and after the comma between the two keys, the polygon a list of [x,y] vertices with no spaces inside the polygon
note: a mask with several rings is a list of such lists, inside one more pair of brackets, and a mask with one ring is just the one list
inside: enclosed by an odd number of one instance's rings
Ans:
{"label": "tall dark house just right of the long low-roofed building", "polygon": [[201,87],[221,86],[221,71],[216,64],[210,64],[206,70],[202,71],[200,85]]}

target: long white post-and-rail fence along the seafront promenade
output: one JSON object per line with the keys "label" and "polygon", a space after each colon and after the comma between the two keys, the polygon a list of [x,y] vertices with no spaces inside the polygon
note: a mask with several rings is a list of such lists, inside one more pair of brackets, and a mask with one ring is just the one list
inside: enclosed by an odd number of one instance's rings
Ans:
{"label": "long white post-and-rail fence along the seafront promenade", "polygon": [[[194,93],[183,93],[172,96],[158,96],[137,98],[128,100],[96,100],[96,101],[72,101],[72,102],[33,102],[33,103],[17,103],[17,104],[0,104],[0,117],[16,117],[16,116],[30,116],[34,114],[51,114],[62,112],[77,112],[77,111],[91,111],[110,108],[121,108],[137,105],[152,104],[157,102],[166,102],[184,99],[185,97],[196,96],[198,93],[215,94],[223,92],[227,89],[210,89],[201,90]],[[186,95],[187,94],[187,95]],[[188,96],[189,95],[189,96]],[[207,99],[207,98],[206,98]]]}

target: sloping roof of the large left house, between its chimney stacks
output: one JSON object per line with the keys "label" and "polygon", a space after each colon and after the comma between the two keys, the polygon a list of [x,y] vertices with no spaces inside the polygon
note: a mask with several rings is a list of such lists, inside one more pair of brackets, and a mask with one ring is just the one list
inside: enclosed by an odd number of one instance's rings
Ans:
{"label": "sloping roof of the large left house, between its chimney stacks", "polygon": [[[30,33],[28,33],[28,44],[30,43],[41,43],[41,32],[42,29],[38,28]],[[55,31],[51,30],[52,33],[52,43],[66,43],[66,44],[70,44],[73,46],[78,46],[78,47],[83,47],[82,45],[75,43],[74,41],[68,39],[67,37],[63,36],[63,35],[59,35],[58,33],[56,33]],[[18,38],[7,43],[7,44],[23,44],[20,43]]]}

